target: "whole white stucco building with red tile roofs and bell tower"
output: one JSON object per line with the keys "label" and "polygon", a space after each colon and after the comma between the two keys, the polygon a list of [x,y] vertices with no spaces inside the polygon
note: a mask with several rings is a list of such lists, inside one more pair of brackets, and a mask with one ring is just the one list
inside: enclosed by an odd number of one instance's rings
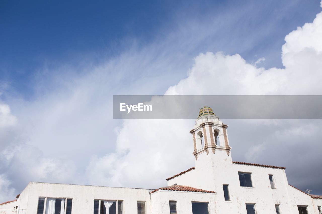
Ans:
{"label": "whole white stucco building with red tile roofs and bell tower", "polygon": [[232,161],[227,125],[203,107],[190,131],[195,166],[156,190],[30,182],[0,214],[321,213],[322,196],[289,185],[285,168]]}

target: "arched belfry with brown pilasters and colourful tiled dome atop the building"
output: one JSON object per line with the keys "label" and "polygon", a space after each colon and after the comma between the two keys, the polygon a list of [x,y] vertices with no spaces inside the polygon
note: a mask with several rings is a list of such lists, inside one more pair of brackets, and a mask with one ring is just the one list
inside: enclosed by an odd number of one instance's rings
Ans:
{"label": "arched belfry with brown pilasters and colourful tiled dome atop the building", "polygon": [[[231,147],[229,146],[227,136],[228,125],[224,125],[217,115],[213,113],[212,108],[204,106],[199,111],[198,119],[194,129],[190,131],[194,140],[194,156],[196,161],[198,156],[216,156],[223,152],[231,158]],[[219,154],[218,154],[219,155]],[[227,158],[225,158],[227,159]]]}

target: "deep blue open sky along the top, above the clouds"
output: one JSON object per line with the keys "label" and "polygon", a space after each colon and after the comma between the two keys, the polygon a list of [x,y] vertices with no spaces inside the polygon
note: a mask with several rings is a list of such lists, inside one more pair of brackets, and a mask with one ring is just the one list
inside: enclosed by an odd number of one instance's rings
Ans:
{"label": "deep blue open sky along the top, above the clouds", "polygon": [[[199,52],[223,51],[239,53],[249,62],[264,57],[262,66],[282,67],[279,52],[284,36],[313,20],[319,11],[317,0],[2,1],[0,4],[1,81],[9,82],[10,90],[26,99],[33,98],[33,84],[29,83],[44,66],[53,73],[62,64],[80,66],[84,58],[99,63],[133,45],[144,48],[192,22],[216,31],[192,44],[194,48],[188,50],[191,58]],[[220,23],[212,23],[214,18],[219,18]],[[165,48],[171,48],[168,45]],[[174,51],[180,54],[184,50]],[[179,79],[185,73],[177,75]]]}

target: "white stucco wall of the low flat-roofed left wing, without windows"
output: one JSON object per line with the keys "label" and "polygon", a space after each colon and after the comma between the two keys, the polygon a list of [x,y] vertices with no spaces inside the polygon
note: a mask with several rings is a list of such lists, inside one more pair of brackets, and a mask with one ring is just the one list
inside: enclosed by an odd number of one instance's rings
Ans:
{"label": "white stucco wall of the low flat-roofed left wing, without windows", "polygon": [[37,213],[39,197],[71,198],[72,213],[93,213],[94,199],[123,201],[123,213],[136,213],[137,201],[146,201],[146,213],[151,213],[149,190],[30,182],[21,194],[19,208],[26,214]]}

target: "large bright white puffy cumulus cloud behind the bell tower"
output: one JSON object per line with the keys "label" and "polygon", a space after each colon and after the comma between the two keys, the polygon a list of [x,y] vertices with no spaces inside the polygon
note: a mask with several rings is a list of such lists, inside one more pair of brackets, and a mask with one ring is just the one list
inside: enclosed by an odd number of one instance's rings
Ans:
{"label": "large bright white puffy cumulus cloud behind the bell tower", "polygon": [[[167,89],[166,95],[320,95],[322,92],[322,13],[312,23],[306,23],[303,27],[290,32],[285,37],[285,44],[282,47],[283,69],[278,68],[257,68],[256,65],[248,64],[242,56],[224,55],[221,52],[200,54],[194,59],[194,65],[189,70],[188,76],[179,83]],[[202,106],[203,103],[200,103]],[[213,106],[215,111],[216,107]],[[197,112],[196,112],[197,114]],[[263,130],[254,128],[254,124],[243,121],[235,125],[253,127],[254,133],[260,134],[257,138],[247,138],[244,133],[239,133],[245,138],[231,137],[231,146],[240,150],[233,150],[233,157],[240,157],[248,161],[269,161],[266,164],[286,164],[290,171],[295,172],[291,164],[294,156],[298,153],[298,147],[285,144],[281,137],[285,133],[297,133],[294,136],[304,136],[303,126],[317,127],[320,121],[268,121]],[[258,124],[258,122],[252,122]],[[259,122],[261,123],[261,121]],[[286,123],[286,124],[285,124]],[[269,124],[269,125],[268,125]],[[166,177],[184,170],[193,165],[192,137],[189,130],[192,129],[194,121],[180,120],[125,120],[122,128],[118,131],[117,151],[101,158],[92,160],[88,167],[88,176],[93,183],[104,183],[108,181],[111,185],[121,185],[157,188],[165,185]],[[287,128],[285,128],[287,126]],[[238,128],[233,129],[237,132]],[[279,130],[285,129],[283,134]],[[269,130],[269,131],[268,131]],[[312,136],[320,137],[316,128],[310,129]],[[180,134],[178,134],[180,133]],[[231,135],[234,135],[229,131]],[[246,132],[253,134],[252,132]],[[239,135],[240,136],[240,135]],[[257,141],[256,141],[257,140]],[[304,139],[294,139],[293,142],[301,143]],[[253,146],[255,144],[255,146]],[[318,146],[317,142],[306,144],[308,150]],[[252,147],[251,150],[246,149]],[[274,147],[281,147],[278,152]],[[311,148],[311,149],[310,149]],[[306,149],[305,149],[306,150]],[[236,154],[240,153],[239,155]],[[289,156],[282,155],[288,151]],[[303,151],[302,152],[307,152]],[[278,153],[276,159],[272,160],[274,153]],[[245,155],[242,155],[245,154]],[[267,154],[270,154],[269,156]],[[319,152],[311,152],[317,162],[310,162],[314,167],[321,165]],[[283,159],[283,158],[284,159]],[[279,160],[281,163],[276,162]],[[272,163],[274,162],[274,163]],[[305,162],[308,164],[308,162]],[[314,167],[309,170],[316,173]],[[292,171],[294,170],[294,171]],[[297,170],[296,170],[297,171]],[[306,171],[308,173],[308,171]],[[93,176],[93,175],[99,176]],[[302,178],[305,176],[302,174]],[[318,177],[319,175],[317,175]],[[160,178],[161,177],[161,178]],[[293,178],[289,179],[295,183],[304,185]],[[305,179],[303,179],[305,180]],[[310,178],[306,185],[312,185]],[[312,181],[313,182],[313,181]],[[315,180],[315,188],[320,186],[320,181]],[[143,185],[143,186],[142,186]],[[316,191],[322,192],[321,189]],[[316,192],[317,193],[317,192]]]}

